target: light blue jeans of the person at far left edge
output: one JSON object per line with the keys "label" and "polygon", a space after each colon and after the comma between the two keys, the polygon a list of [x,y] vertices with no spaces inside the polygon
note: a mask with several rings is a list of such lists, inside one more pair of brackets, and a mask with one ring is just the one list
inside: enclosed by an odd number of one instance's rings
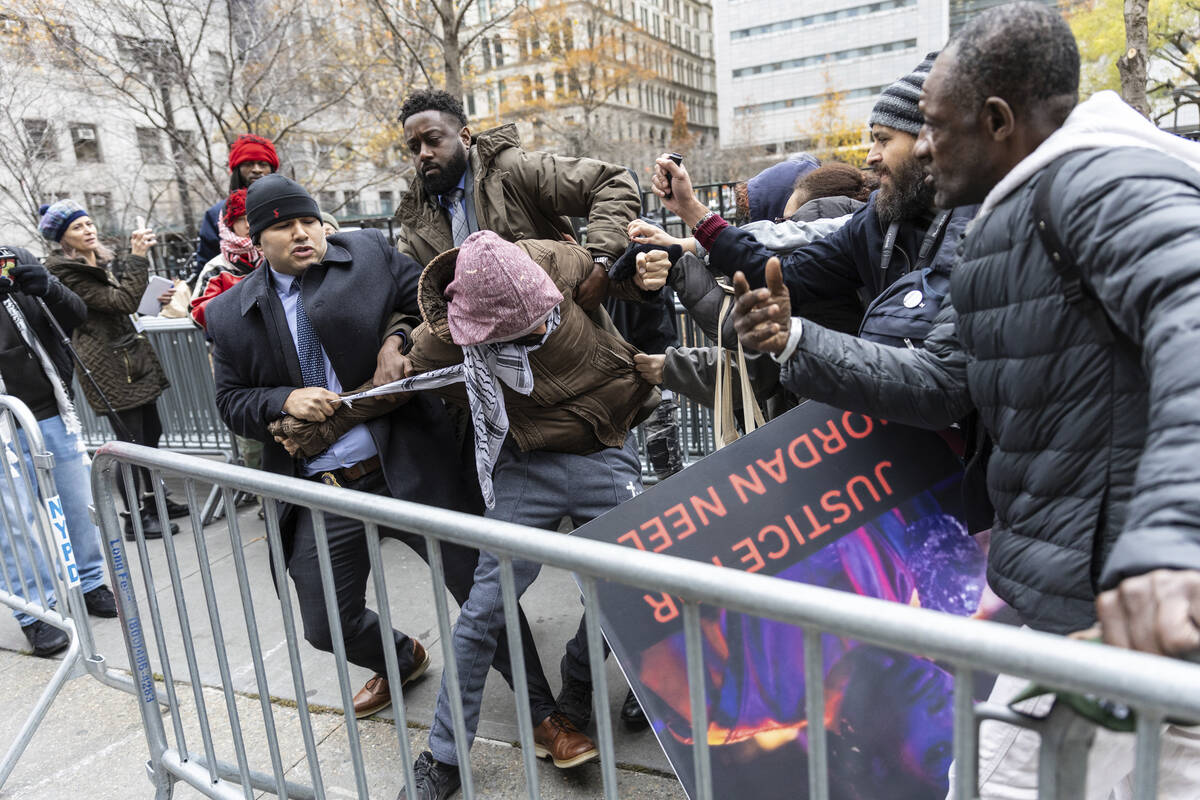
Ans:
{"label": "light blue jeans of the person at far left edge", "polygon": [[[79,437],[67,433],[62,417],[38,420],[37,426],[46,440],[46,449],[54,456],[54,486],[62,504],[62,515],[66,517],[67,535],[71,539],[76,567],[79,570],[79,582],[83,591],[88,593],[104,583],[104,554],[101,549],[100,531],[88,516],[88,506],[91,503],[91,461]],[[19,438],[25,469],[30,479],[36,480],[29,444],[24,434]],[[5,462],[7,463],[7,453]],[[19,497],[13,498],[8,491],[7,477],[0,477],[0,494],[4,495],[4,513],[0,513],[0,529],[2,529],[0,554],[4,557],[5,569],[0,588],[5,590],[11,588],[13,594],[26,600],[41,600],[49,608],[55,603],[50,566],[40,547],[30,548],[31,531],[36,530],[37,524],[34,518],[34,499],[25,493],[22,481],[16,480],[16,485]],[[8,530],[8,521],[13,524],[24,524],[24,529]],[[50,546],[54,543],[52,539]],[[42,589],[47,593],[46,597],[38,597],[37,583],[34,579],[35,569],[42,582]],[[22,626],[34,621],[32,616],[20,612],[13,612],[13,616]]]}

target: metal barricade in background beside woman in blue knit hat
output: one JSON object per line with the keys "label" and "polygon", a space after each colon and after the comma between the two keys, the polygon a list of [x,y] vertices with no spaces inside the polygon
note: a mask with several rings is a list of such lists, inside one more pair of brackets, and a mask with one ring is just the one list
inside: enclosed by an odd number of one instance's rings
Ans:
{"label": "metal barricade in background beside woman in blue knit hat", "polygon": [[[157,401],[162,420],[160,446],[176,452],[220,456],[227,463],[236,463],[240,457],[238,443],[217,413],[216,384],[204,330],[186,318],[144,317],[142,324],[170,381]],[[78,374],[74,395],[80,398],[77,410],[88,449],[96,450],[114,440],[116,437],[108,419],[83,402]],[[204,524],[221,511],[221,494],[212,488],[202,506]]]}

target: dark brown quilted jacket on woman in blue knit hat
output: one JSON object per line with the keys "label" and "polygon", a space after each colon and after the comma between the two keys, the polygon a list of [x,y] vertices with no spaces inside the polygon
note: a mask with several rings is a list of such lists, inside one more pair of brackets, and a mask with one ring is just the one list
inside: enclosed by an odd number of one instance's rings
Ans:
{"label": "dark brown quilted jacket on woman in blue knit hat", "polygon": [[[46,259],[46,269],[86,303],[88,320],[72,335],[74,348],[108,402],[124,411],[152,403],[170,384],[145,333],[138,333],[130,319],[145,290],[150,261],[126,255],[116,264],[114,275],[109,266],[91,266],[78,258]],[[79,383],[92,409],[107,413],[91,383]]]}

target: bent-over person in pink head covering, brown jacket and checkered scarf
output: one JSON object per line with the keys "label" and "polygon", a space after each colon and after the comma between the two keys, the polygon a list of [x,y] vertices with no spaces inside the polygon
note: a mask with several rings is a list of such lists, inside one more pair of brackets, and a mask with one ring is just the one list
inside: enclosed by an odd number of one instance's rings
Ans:
{"label": "bent-over person in pink head covering, brown jacket and checkered scarf", "polygon": [[[613,284],[611,293],[641,300],[661,287],[666,266],[652,254],[637,277]],[[404,380],[377,390],[385,393],[343,402],[324,422],[284,417],[272,432],[294,453],[313,456],[362,419],[403,402],[397,390],[434,391],[470,413],[488,518],[557,530],[564,516],[581,525],[602,515],[641,491],[630,431],[656,405],[658,390],[634,367],[638,350],[604,317],[598,321],[575,303],[574,290],[592,269],[588,252],[572,243],[472,234],[421,275],[422,321],[412,333]],[[512,569],[520,597],[541,565],[514,560]],[[499,559],[482,552],[454,630],[470,739],[503,626]],[[556,766],[599,754],[558,708],[534,716],[534,724],[539,757]],[[418,796],[448,798],[460,778],[444,679],[430,750],[418,759]]]}

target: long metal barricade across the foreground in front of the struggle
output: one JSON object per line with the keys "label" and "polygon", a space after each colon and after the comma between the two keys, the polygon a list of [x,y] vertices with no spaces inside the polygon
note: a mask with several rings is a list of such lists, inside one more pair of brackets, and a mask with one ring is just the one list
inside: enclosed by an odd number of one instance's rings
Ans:
{"label": "long metal barricade across the foreground in front of the struggle", "polygon": [[[860,597],[829,589],[808,587],[779,578],[721,569],[710,564],[684,560],[667,554],[655,554],[602,542],[576,540],[562,534],[523,528],[509,523],[487,521],[437,507],[424,506],[324,486],[313,481],[266,475],[260,471],[226,467],[209,461],[190,458],[161,450],[149,450],[127,444],[110,444],[101,449],[92,470],[98,516],[108,542],[107,558],[118,588],[121,624],[133,664],[134,679],[139,687],[142,717],[150,748],[148,764],[150,778],[157,788],[158,798],[170,796],[176,781],[186,782],[210,798],[251,798],[256,790],[268,790],[277,796],[325,798],[335,794],[326,788],[313,736],[313,722],[307,705],[305,674],[299,660],[299,649],[305,646],[298,636],[293,618],[290,587],[282,569],[275,571],[274,589],[277,597],[262,595],[265,579],[250,576],[246,553],[238,529],[235,515],[228,515],[224,528],[202,530],[193,522],[198,573],[203,584],[203,604],[211,625],[211,642],[221,675],[221,692],[229,721],[233,751],[230,763],[218,759],[212,735],[211,709],[206,708],[199,690],[198,637],[191,633],[187,602],[185,597],[176,548],[172,537],[164,540],[167,569],[170,571],[172,589],[179,615],[184,657],[175,657],[164,639],[167,610],[160,604],[154,591],[150,561],[145,542],[140,537],[136,552],[127,554],[121,540],[113,493],[118,470],[131,465],[145,467],[157,476],[180,479],[187,487],[190,501],[196,500],[196,483],[218,485],[228,497],[235,491],[253,492],[269,498],[269,507],[276,501],[294,504],[312,510],[313,529],[318,546],[318,560],[324,584],[325,608],[329,614],[334,643],[334,662],[342,698],[342,714],[349,740],[349,762],[354,777],[354,793],[366,799],[368,777],[365,769],[358,721],[353,712],[352,686],[341,627],[332,590],[325,517],[338,515],[364,522],[366,546],[370,557],[372,581],[377,597],[386,658],[386,676],[396,709],[397,751],[392,766],[392,780],[401,772],[409,793],[413,792],[413,753],[406,735],[407,715],[404,698],[400,692],[395,646],[390,630],[389,588],[382,566],[379,548],[380,528],[395,528],[422,535],[430,549],[430,566],[433,573],[434,604],[438,630],[442,637],[444,674],[450,686],[454,732],[458,742],[460,764],[470,763],[463,741],[463,714],[457,691],[458,680],[451,644],[451,622],[443,585],[443,560],[439,541],[456,542],[490,551],[500,557],[500,582],[504,593],[504,613],[509,648],[516,686],[516,717],[520,745],[526,769],[528,796],[536,800],[539,786],[533,748],[533,730],[528,711],[526,670],[520,646],[516,619],[516,594],[512,579],[512,560],[529,559],[545,565],[562,567],[577,573],[584,594],[588,619],[588,646],[595,687],[595,720],[600,766],[604,780],[604,796],[614,800],[617,795],[616,759],[613,757],[611,698],[606,673],[602,668],[601,637],[596,606],[598,581],[612,581],[631,587],[650,588],[679,599],[686,639],[686,672],[690,686],[691,718],[697,729],[708,728],[708,708],[704,699],[704,663],[701,648],[700,606],[722,607],[745,614],[779,620],[802,626],[805,631],[804,663],[797,669],[805,670],[805,696],[808,720],[824,720],[824,680],[822,633],[851,637],[904,652],[936,658],[954,672],[955,710],[954,754],[959,764],[956,800],[976,796],[978,726],[982,720],[1002,720],[1032,727],[1042,735],[1042,776],[1039,798],[1042,800],[1078,800],[1084,796],[1086,756],[1092,730],[1079,718],[1052,714],[1043,721],[1031,721],[1007,708],[977,705],[972,698],[973,676],[979,672],[996,672],[1024,676],[1037,682],[1073,692],[1094,693],[1130,706],[1138,715],[1135,794],[1138,800],[1148,800],[1156,794],[1159,754],[1159,738],[1163,721],[1171,717],[1200,720],[1200,667],[1183,661],[1160,658],[1100,645],[1064,639],[1058,636],[1037,633],[1028,630],[970,620],[960,616],[913,608],[899,603]],[[130,481],[126,481],[130,483]],[[161,489],[160,489],[161,491]],[[162,497],[158,498],[160,515],[163,513]],[[193,517],[193,521],[196,518]],[[275,513],[268,515],[268,542],[271,555],[280,564],[282,547],[280,525]],[[228,540],[233,547],[233,571],[238,581],[238,599],[216,596],[212,584],[209,547],[223,546]],[[211,545],[209,543],[211,542]],[[262,547],[262,545],[259,545]],[[145,582],[148,607],[143,610],[134,596],[136,578],[131,560],[138,561]],[[186,565],[191,569],[193,565]],[[260,593],[253,599],[254,587]],[[167,593],[163,593],[164,595]],[[226,593],[227,595],[232,593]],[[288,783],[280,757],[280,739],[269,698],[272,694],[270,675],[264,666],[264,651],[259,640],[258,619],[266,613],[282,615],[290,674],[284,681],[295,691],[300,715],[300,738],[304,740],[305,765],[311,786]],[[230,610],[234,614],[230,614]],[[199,624],[199,622],[197,622]],[[245,627],[248,640],[250,664],[257,685],[258,708],[262,727],[269,742],[270,771],[256,771],[244,745],[244,728],[256,720],[239,712],[236,696],[230,686],[230,663],[226,640]],[[208,637],[205,637],[206,639]],[[275,648],[280,650],[280,646]],[[170,709],[173,740],[168,739],[167,724],[155,698],[157,661],[164,681],[164,693]],[[175,690],[184,670],[192,684],[196,699],[194,716],[200,726],[200,745],[185,738],[180,698]],[[245,672],[244,674],[248,674]],[[1082,727],[1081,727],[1082,726]],[[829,796],[829,769],[827,732],[823,726],[809,728],[810,798]],[[713,781],[706,735],[694,735],[695,771],[697,776],[696,798],[713,800]],[[347,790],[338,787],[338,796]],[[412,794],[409,795],[412,796]],[[475,786],[469,769],[462,769],[462,796],[464,800],[488,796],[487,788]]]}

